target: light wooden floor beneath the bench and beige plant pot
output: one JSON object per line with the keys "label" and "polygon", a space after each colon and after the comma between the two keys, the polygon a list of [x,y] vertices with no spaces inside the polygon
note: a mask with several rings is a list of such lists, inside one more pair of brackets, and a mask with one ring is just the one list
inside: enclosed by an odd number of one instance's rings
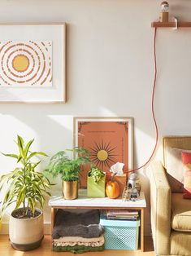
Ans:
{"label": "light wooden floor beneath the bench and beige plant pot", "polygon": [[[50,236],[45,236],[41,247],[28,252],[16,251],[11,248],[8,241],[8,236],[0,236],[0,255],[2,256],[72,256],[72,253],[58,253],[53,252],[50,249]],[[102,252],[85,253],[85,256],[154,256],[153,243],[151,237],[145,237],[145,252],[142,253],[140,250],[128,251],[128,250],[104,250]]]}

